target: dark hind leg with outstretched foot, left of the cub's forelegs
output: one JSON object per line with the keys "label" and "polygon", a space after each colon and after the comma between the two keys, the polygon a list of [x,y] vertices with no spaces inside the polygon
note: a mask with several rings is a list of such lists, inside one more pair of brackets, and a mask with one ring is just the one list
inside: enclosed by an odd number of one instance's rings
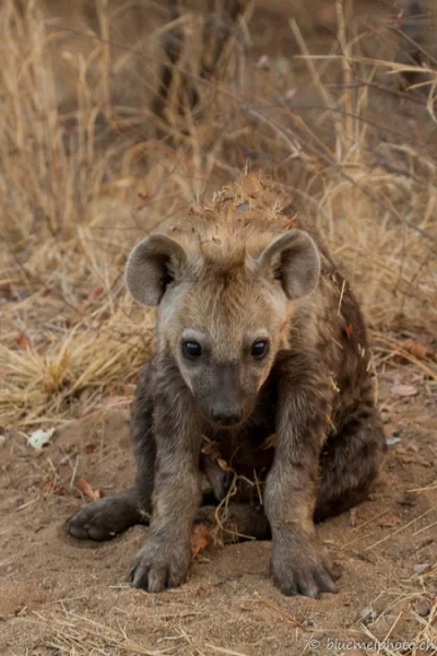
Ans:
{"label": "dark hind leg with outstretched foot, left of the cub's forelegs", "polygon": [[152,364],[147,363],[132,406],[131,438],[138,468],[134,488],[80,508],[67,522],[67,530],[74,538],[108,540],[134,524],[149,522],[155,468],[152,389]]}

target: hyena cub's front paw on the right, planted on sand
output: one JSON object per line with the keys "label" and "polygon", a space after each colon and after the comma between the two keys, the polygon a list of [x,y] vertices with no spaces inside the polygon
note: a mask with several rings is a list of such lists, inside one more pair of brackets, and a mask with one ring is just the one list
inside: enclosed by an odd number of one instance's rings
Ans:
{"label": "hyena cub's front paw on the right, planted on sand", "polygon": [[315,599],[321,593],[335,593],[339,573],[328,552],[315,538],[281,536],[273,541],[272,572],[274,584],[283,595],[304,595]]}

